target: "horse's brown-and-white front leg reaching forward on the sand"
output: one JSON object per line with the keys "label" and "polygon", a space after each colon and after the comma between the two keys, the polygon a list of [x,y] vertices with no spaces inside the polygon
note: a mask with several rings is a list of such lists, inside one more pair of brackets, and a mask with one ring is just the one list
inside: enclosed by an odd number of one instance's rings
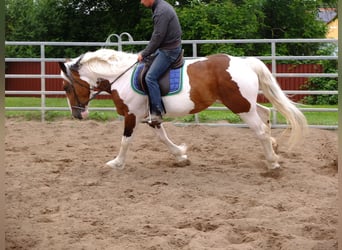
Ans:
{"label": "horse's brown-and-white front leg reaching forward on the sand", "polygon": [[125,116],[125,128],[124,133],[121,139],[120,151],[119,154],[115,157],[114,160],[108,161],[106,163],[107,166],[116,169],[123,169],[126,163],[126,155],[128,146],[133,140],[133,130],[136,127],[136,118],[134,115],[126,115]]}

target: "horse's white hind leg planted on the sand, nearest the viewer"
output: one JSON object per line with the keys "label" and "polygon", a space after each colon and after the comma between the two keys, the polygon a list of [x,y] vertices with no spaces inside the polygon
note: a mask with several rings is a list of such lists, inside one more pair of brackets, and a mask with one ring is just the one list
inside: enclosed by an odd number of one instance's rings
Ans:
{"label": "horse's white hind leg planted on the sand, nearest the viewer", "polygon": [[255,132],[257,138],[260,140],[265,158],[268,163],[269,169],[279,168],[278,156],[273,150],[271,129],[258,115],[256,109],[251,109],[248,113],[240,113],[239,116],[248,124],[248,126]]}

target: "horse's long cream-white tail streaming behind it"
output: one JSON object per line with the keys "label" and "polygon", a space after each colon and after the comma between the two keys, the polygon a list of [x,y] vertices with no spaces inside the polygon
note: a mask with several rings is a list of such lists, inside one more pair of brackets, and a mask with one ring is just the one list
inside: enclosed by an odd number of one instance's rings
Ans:
{"label": "horse's long cream-white tail streaming behind it", "polygon": [[260,88],[265,97],[285,117],[287,123],[290,123],[292,129],[289,143],[290,146],[293,146],[300,141],[307,128],[305,116],[296,107],[296,104],[284,94],[277,80],[262,61],[254,57],[248,58],[247,61],[258,75]]}

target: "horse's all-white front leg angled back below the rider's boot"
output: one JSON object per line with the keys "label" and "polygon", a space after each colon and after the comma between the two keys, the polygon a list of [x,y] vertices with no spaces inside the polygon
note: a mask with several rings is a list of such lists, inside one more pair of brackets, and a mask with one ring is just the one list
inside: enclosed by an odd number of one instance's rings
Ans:
{"label": "horse's all-white front leg angled back below the rider's boot", "polygon": [[163,124],[154,126],[153,130],[159,139],[168,147],[170,152],[176,157],[179,164],[189,164],[188,156],[186,155],[187,146],[184,143],[181,145],[174,144],[167,136]]}

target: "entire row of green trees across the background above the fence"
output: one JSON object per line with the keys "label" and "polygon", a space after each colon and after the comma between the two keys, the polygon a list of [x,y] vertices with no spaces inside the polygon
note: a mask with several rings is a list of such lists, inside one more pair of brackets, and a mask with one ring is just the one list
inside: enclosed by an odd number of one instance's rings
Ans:
{"label": "entire row of green trees across the background above the fence", "polygon": [[[183,39],[320,38],[325,25],[316,19],[315,0],[167,0],[175,7]],[[337,0],[324,0],[334,4]],[[128,32],[148,40],[151,10],[131,0],[5,0],[6,40],[105,41],[112,33]],[[278,48],[278,47],[277,47]],[[83,48],[84,49],[84,48]],[[289,44],[278,54],[314,54],[316,45]],[[49,48],[47,56],[73,56],[82,48]],[[67,53],[63,53],[67,51]],[[83,51],[84,52],[84,51]],[[198,55],[227,52],[264,55],[265,45],[201,45]],[[11,48],[20,56],[39,54],[36,48]]]}

